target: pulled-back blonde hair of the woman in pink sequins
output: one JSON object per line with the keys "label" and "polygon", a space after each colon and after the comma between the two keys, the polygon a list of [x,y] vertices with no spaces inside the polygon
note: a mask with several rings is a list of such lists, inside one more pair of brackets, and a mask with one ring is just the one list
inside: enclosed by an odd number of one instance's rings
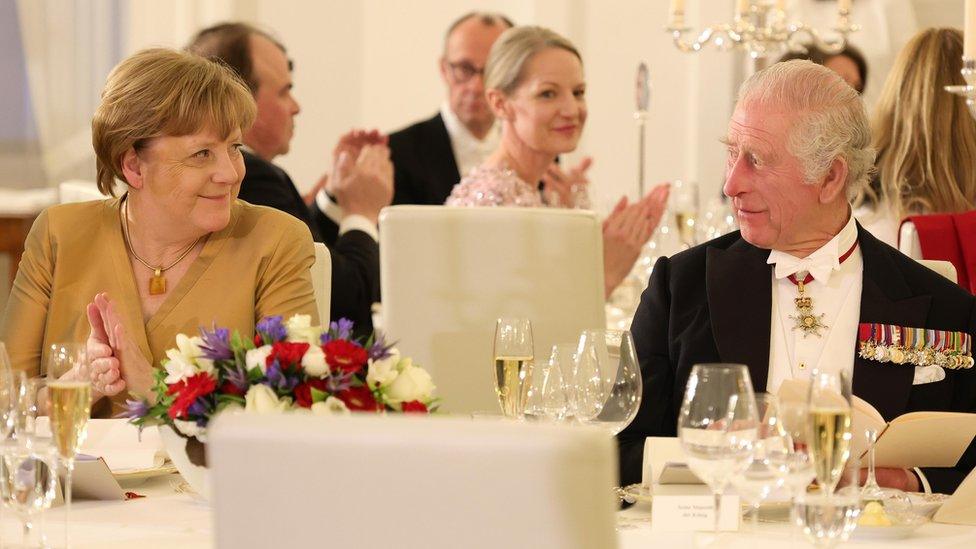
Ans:
{"label": "pulled-back blonde hair of the woman in pink sequins", "polygon": [[488,54],[485,89],[496,89],[511,95],[522,83],[528,60],[549,48],[566,50],[583,63],[583,57],[572,42],[545,27],[512,27],[503,32]]}

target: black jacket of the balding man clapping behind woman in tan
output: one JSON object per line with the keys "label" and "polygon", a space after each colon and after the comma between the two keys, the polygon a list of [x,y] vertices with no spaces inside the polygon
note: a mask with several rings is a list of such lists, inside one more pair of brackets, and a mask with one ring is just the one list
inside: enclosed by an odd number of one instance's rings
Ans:
{"label": "black jacket of the balding man clapping behind woman in tan", "polygon": [[[332,297],[329,315],[332,320],[348,318],[355,322],[356,335],[372,331],[371,307],[379,301],[380,252],[373,237],[362,231],[338,235],[338,227],[326,239],[313,213],[284,170],[257,156],[244,152],[244,181],[238,198],[288,212],[301,219],[312,232],[312,239],[323,242],[332,255]],[[318,208],[314,208],[318,211]],[[325,218],[324,215],[321,216]],[[328,221],[328,219],[326,219]],[[334,223],[328,221],[335,226]],[[322,319],[325,321],[325,319]]]}

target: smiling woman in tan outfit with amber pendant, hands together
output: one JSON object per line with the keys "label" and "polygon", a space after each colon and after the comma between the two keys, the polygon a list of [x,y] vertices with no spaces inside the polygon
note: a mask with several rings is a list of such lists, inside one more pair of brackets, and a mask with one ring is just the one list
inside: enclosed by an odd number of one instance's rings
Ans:
{"label": "smiling woman in tan outfit with amber pendant, hands together", "polygon": [[110,198],[35,221],[0,318],[14,368],[43,374],[52,344],[87,341],[89,372],[65,376],[90,378],[93,415],[106,415],[149,394],[179,333],[216,323],[253,337],[266,315],[318,321],[308,229],[237,200],[254,116],[247,86],[201,57],[145,50],[112,71],[92,120]]}

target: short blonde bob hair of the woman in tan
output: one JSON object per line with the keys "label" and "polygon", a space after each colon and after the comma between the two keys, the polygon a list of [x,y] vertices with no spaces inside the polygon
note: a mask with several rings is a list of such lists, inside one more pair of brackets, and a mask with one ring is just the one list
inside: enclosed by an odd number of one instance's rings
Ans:
{"label": "short blonde bob hair of the woman in tan", "polygon": [[140,51],[112,69],[92,118],[98,190],[113,196],[115,180],[125,181],[129,149],[206,128],[222,136],[244,132],[256,114],[247,84],[226,66],[177,50]]}

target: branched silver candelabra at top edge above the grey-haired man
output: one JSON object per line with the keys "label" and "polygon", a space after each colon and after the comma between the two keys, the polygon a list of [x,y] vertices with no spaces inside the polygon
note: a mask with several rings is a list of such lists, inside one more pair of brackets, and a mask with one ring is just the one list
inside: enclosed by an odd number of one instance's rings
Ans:
{"label": "branched silver candelabra at top edge above the grey-haired man", "polygon": [[698,38],[686,40],[692,29],[684,24],[684,2],[672,3],[668,32],[674,45],[683,52],[697,52],[708,44],[721,50],[744,50],[754,60],[779,56],[786,51],[806,52],[814,45],[827,53],[839,53],[847,45],[847,35],[859,29],[850,21],[850,3],[841,0],[837,8],[836,37],[826,38],[803,23],[788,22],[782,0],[739,0],[731,24],[712,25]]}

